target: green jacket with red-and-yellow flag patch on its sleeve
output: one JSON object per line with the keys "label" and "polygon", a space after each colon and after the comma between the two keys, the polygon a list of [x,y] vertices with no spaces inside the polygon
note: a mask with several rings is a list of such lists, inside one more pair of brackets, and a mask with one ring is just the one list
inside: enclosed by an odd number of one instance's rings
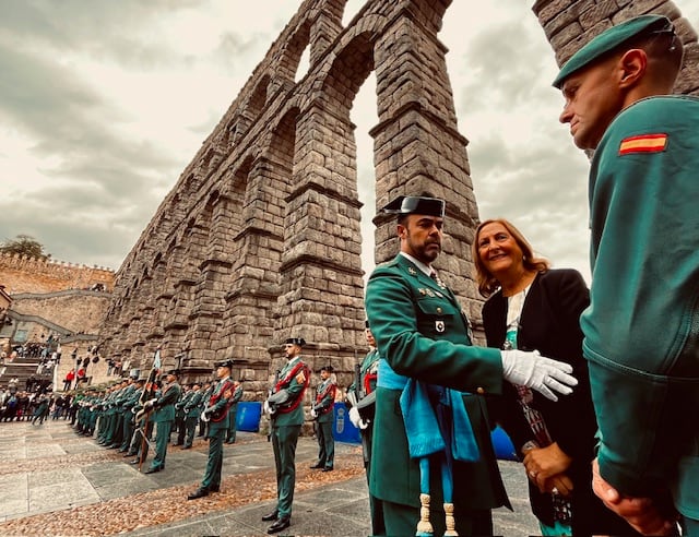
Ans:
{"label": "green jacket with red-and-yellow flag patch on its sleeve", "polygon": [[699,99],[651,97],[621,111],[589,188],[581,326],[600,472],[629,496],[670,485],[678,510],[699,518]]}

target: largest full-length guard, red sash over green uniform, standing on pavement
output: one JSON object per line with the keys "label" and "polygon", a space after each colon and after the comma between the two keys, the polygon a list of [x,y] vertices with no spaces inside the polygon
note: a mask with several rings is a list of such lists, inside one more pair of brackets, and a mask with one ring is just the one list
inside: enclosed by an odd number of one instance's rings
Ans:
{"label": "largest full-length guard, red sash over green uniform, standing on pavement", "polygon": [[271,439],[276,466],[276,506],[262,516],[274,521],[268,534],[275,534],[292,524],[292,504],[296,485],[296,443],[304,425],[304,394],[310,382],[310,370],[301,360],[303,337],[289,337],[284,344],[288,360],[280,371],[279,380],[270,390],[264,409],[270,415]]}

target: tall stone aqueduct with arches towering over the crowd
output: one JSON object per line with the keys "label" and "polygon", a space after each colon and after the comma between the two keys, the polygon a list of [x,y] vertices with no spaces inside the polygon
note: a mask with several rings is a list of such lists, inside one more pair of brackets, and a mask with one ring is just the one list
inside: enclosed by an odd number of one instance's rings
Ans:
{"label": "tall stone aqueduct with arches towering over the crowd", "polygon": [[[440,272],[478,317],[470,244],[478,210],[457,130],[438,33],[451,0],[371,0],[342,25],[345,0],[306,0],[182,171],[117,274],[100,331],[106,356],[210,377],[235,359],[250,396],[266,390],[288,336],[313,369],[347,385],[366,351],[353,99],[370,74],[379,121],[376,203],[429,190],[449,200]],[[687,45],[678,93],[699,92],[697,35],[663,0],[538,0],[532,8],[560,63],[629,16],[668,15]],[[309,71],[295,74],[309,48]],[[395,254],[393,223],[376,224],[376,262]],[[343,375],[345,375],[343,378]]]}

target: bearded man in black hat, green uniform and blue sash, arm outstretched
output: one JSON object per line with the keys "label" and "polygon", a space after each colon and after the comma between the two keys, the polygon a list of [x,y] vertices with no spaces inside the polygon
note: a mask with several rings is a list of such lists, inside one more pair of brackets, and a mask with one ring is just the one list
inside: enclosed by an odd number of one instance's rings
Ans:
{"label": "bearded man in black hat, green uniform and blue sash, arm outstretched", "polygon": [[509,500],[484,394],[501,394],[505,379],[556,399],[577,383],[569,365],[538,353],[472,346],[459,300],[431,267],[445,207],[428,195],[389,203],[401,251],[367,283],[381,355],[369,480],[387,535],[490,535],[490,510]]}

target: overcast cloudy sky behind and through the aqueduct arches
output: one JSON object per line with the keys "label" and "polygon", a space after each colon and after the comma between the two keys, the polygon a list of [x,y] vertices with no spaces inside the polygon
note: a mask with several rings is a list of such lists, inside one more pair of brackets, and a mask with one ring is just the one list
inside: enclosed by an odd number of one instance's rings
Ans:
{"label": "overcast cloudy sky behind and through the aqueduct arches", "polygon": [[[699,2],[675,3],[699,28]],[[363,4],[348,1],[345,24]],[[588,160],[557,121],[557,69],[531,4],[455,0],[439,37],[481,218],[511,219],[589,278]],[[0,0],[0,241],[31,235],[54,259],[117,270],[298,5]],[[353,109],[365,251],[372,83]]]}

